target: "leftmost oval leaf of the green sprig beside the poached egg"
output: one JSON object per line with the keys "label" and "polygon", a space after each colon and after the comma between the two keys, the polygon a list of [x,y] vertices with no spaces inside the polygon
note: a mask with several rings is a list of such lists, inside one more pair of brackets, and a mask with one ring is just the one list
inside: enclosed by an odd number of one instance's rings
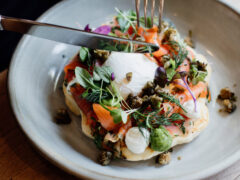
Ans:
{"label": "leftmost oval leaf of the green sprig beside the poached egg", "polygon": [[87,70],[81,67],[76,67],[75,76],[76,76],[77,82],[85,89],[96,88],[96,86],[93,83],[93,78],[91,77],[91,75]]}

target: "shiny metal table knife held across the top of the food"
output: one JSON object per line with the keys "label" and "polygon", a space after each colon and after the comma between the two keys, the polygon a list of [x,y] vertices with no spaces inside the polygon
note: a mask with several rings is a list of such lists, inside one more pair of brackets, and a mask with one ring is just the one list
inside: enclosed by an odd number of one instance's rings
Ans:
{"label": "shiny metal table knife held across the top of the food", "polygon": [[[159,49],[158,46],[142,41],[118,38],[108,35],[97,34],[94,32],[86,32],[75,28],[59,26],[54,24],[41,23],[26,19],[18,19],[0,15],[0,30],[14,31],[22,34],[28,34],[44,39],[49,39],[66,44],[76,46],[84,46],[92,49],[104,49],[112,51],[124,51],[122,45],[138,45],[140,48],[135,48],[135,52],[153,52]],[[108,49],[107,45],[119,47]],[[110,47],[111,47],[110,46]],[[120,48],[121,47],[121,48]],[[138,51],[139,49],[139,51]]]}

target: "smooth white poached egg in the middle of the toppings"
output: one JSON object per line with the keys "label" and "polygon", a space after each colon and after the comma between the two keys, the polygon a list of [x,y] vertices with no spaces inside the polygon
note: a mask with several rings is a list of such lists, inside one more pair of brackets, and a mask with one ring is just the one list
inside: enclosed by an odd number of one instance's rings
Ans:
{"label": "smooth white poached egg in the middle of the toppings", "polygon": [[[112,52],[103,64],[110,66],[121,96],[126,99],[132,93],[138,95],[148,81],[153,81],[158,65],[144,54]],[[132,73],[131,80],[126,78]]]}

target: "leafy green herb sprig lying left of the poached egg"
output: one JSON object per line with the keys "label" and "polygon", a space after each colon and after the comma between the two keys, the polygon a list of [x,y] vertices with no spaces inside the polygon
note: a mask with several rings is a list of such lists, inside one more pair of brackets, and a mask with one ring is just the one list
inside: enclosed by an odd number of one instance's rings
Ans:
{"label": "leafy green herb sprig lying left of the poached egg", "polygon": [[[114,123],[127,122],[128,113],[121,107],[122,97],[115,84],[111,81],[112,70],[108,66],[95,67],[93,77],[89,72],[81,67],[75,68],[77,82],[86,90],[82,97],[89,102],[99,103],[108,110],[113,117]],[[117,107],[116,109],[109,109]]]}

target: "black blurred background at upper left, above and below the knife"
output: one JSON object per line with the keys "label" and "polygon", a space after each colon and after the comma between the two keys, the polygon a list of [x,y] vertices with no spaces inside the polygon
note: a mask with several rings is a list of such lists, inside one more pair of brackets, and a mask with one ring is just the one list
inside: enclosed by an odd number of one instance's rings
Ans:
{"label": "black blurred background at upper left, above and below the knife", "polygon": [[[60,0],[0,0],[0,14],[35,20]],[[0,71],[7,68],[21,35],[0,31]]]}

